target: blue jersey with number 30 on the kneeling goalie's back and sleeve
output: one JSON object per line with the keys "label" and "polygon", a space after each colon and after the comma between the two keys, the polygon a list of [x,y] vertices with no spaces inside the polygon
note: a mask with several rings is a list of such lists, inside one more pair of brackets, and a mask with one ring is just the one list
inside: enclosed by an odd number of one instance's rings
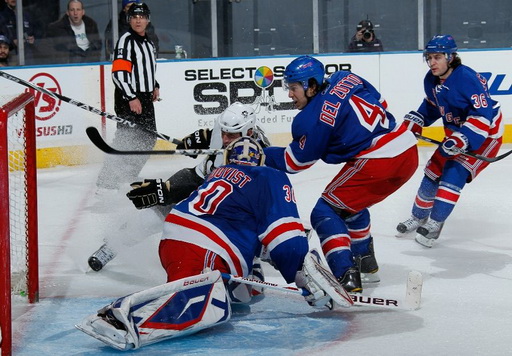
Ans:
{"label": "blue jersey with number 30 on the kneeling goalie's back and sleeve", "polygon": [[165,221],[162,239],[211,250],[234,275],[248,275],[263,245],[290,283],[308,252],[291,183],[285,173],[269,167],[214,169]]}

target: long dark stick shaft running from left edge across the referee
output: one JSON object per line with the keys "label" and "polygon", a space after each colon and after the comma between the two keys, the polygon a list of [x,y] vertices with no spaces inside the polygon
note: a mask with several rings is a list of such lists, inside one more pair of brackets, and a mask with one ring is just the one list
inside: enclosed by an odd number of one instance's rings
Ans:
{"label": "long dark stick shaft running from left edge across the referee", "polygon": [[105,116],[107,119],[117,121],[120,124],[127,125],[127,126],[130,126],[132,128],[136,127],[136,128],[143,129],[144,131],[152,133],[153,135],[157,136],[158,138],[161,138],[162,140],[169,141],[169,142],[172,142],[172,143],[175,143],[175,144],[178,144],[180,142],[178,140],[171,139],[169,136],[164,135],[164,134],[162,134],[160,132],[157,132],[157,131],[154,131],[154,130],[150,130],[150,129],[148,129],[148,128],[142,126],[142,125],[136,124],[136,123],[134,123],[134,122],[132,122],[130,120],[123,119],[122,117],[119,117],[117,115],[109,114],[107,112],[101,111],[100,109],[97,109],[97,108],[95,108],[93,106],[90,106],[90,105],[87,105],[85,103],[82,103],[80,101],[68,98],[67,96],[64,96],[64,95],[61,95],[61,94],[58,94],[58,93],[54,93],[54,92],[52,92],[52,91],[50,91],[48,89],[45,89],[45,88],[40,87],[38,85],[32,84],[30,82],[27,82],[27,81],[25,81],[23,79],[15,77],[14,75],[10,75],[10,74],[8,74],[6,72],[0,71],[0,76],[4,77],[5,79],[11,80],[11,81],[13,81],[15,83],[21,84],[21,85],[23,85],[23,86],[25,86],[27,88],[31,88],[33,90],[36,90],[36,91],[40,92],[40,93],[46,94],[48,96],[51,96],[54,99],[62,100],[62,101],[65,101],[68,104],[77,106],[77,107],[79,107],[81,109],[84,109],[86,111],[92,112],[94,114],[98,114],[100,116]]}

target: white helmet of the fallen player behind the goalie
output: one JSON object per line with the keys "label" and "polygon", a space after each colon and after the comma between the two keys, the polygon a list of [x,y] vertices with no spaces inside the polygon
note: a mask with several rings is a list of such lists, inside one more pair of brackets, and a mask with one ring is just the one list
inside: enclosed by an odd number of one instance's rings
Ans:
{"label": "white helmet of the fallen player behind the goalie", "polygon": [[247,131],[256,124],[256,115],[252,107],[237,101],[228,106],[217,120],[222,131],[247,135]]}

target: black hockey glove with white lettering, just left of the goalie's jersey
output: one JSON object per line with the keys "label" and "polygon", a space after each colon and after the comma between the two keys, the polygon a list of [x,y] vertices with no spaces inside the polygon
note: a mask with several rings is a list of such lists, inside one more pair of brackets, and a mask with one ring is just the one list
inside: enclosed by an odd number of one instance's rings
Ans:
{"label": "black hockey glove with white lettering, just left of the goalie's jersey", "polygon": [[126,193],[126,196],[137,209],[172,203],[169,182],[161,179],[145,179],[143,182],[134,182],[130,185],[133,189]]}

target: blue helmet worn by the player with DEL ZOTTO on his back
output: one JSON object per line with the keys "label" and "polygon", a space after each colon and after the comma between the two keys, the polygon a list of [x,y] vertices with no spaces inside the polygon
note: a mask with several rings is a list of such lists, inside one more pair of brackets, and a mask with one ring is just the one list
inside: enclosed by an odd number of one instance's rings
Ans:
{"label": "blue helmet worn by the player with DEL ZOTTO on his back", "polygon": [[300,56],[291,61],[284,70],[283,84],[287,87],[290,83],[302,83],[304,90],[309,87],[309,79],[316,80],[318,85],[324,82],[324,65],[318,59],[311,56]]}

